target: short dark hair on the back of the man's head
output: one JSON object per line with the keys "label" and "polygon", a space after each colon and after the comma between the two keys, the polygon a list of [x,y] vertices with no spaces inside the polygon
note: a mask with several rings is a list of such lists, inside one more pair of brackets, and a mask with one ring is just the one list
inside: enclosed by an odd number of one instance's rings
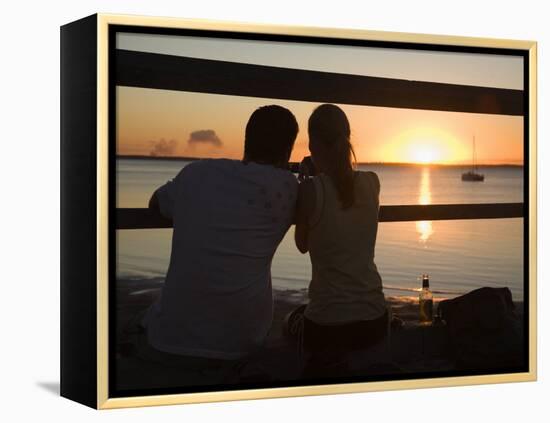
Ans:
{"label": "short dark hair on the back of the man's head", "polygon": [[286,163],[298,135],[298,122],[281,106],[263,106],[254,111],[244,136],[245,160],[269,164]]}

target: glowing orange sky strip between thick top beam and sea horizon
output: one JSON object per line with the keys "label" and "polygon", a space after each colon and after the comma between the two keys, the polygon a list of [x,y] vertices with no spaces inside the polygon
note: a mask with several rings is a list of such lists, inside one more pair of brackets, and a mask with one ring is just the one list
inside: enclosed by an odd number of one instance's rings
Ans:
{"label": "glowing orange sky strip between thick top beam and sea horizon", "polygon": [[[307,151],[307,119],[315,103],[118,87],[118,154],[149,155],[175,140],[165,155],[241,158],[250,114],[265,104],[291,110],[300,126],[291,159]],[[469,163],[472,136],[479,163],[523,160],[523,118],[341,105],[360,162]],[[191,132],[213,130],[221,146],[190,144]]]}

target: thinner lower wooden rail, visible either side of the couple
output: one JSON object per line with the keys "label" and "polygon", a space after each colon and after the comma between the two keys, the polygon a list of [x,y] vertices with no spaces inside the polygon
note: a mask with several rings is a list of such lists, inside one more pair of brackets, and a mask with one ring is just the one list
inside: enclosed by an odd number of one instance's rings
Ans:
{"label": "thinner lower wooden rail, visible either side of the couple", "polygon": [[[523,203],[493,204],[432,204],[408,206],[381,206],[380,222],[407,222],[418,220],[502,219],[523,217]],[[116,229],[171,228],[172,221],[149,209],[117,209]]]}

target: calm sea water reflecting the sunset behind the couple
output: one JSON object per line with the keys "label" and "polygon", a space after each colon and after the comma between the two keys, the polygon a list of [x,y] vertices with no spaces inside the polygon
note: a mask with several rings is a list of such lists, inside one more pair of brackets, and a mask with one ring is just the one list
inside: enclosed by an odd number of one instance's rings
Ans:
{"label": "calm sea water reflecting the sunset behind the couple", "polygon": [[[118,159],[117,207],[147,207],[154,190],[188,164],[185,161]],[[523,168],[482,168],[485,181],[460,179],[464,168],[360,165],[381,182],[380,204],[508,203],[523,201]],[[170,229],[117,230],[118,279],[164,277]],[[298,252],[290,228],[272,263],[277,288],[306,288],[309,256]],[[386,295],[415,295],[422,273],[436,296],[453,297],[482,286],[507,286],[523,299],[523,219],[380,223],[375,262]]]}

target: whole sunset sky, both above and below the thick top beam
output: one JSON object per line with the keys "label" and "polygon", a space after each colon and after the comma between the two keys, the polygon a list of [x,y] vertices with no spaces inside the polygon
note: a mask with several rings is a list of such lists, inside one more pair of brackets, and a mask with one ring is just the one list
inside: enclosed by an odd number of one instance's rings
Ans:
{"label": "whole sunset sky, both above and below the thick top beam", "polygon": [[[303,52],[294,49],[296,46],[289,47],[288,44],[282,45],[283,43],[239,41],[236,45],[228,42],[229,44],[225,46],[231,45],[232,48],[222,48],[219,40],[214,43],[202,38],[166,36],[132,38],[129,35],[125,37],[117,41],[117,47],[218,59],[220,59],[218,53],[223,51],[224,54],[233,55],[221,57],[224,60],[308,69],[323,68],[318,63],[321,60],[319,58],[315,60],[313,54],[315,51],[318,54],[324,52],[326,55],[326,46],[315,50],[313,49],[315,46],[306,45],[303,48],[310,50],[307,56],[303,56],[300,55]],[[300,46],[303,45],[298,47]],[[275,60],[272,58],[273,55],[269,54],[270,48],[278,52],[276,63],[273,63]],[[318,46],[316,48],[319,49]],[[333,49],[336,49],[334,54],[347,53],[346,49],[340,47],[333,47]],[[522,72],[521,66],[518,66],[518,58],[487,57],[488,55],[477,57],[471,54],[433,52],[411,56],[414,51],[353,49],[349,54],[358,58],[352,62],[355,68],[350,67],[350,61],[344,60],[345,57],[331,61],[328,65],[325,63],[324,68],[374,76],[400,78],[409,76],[407,79],[522,88]],[[358,56],[358,53],[363,51],[366,53],[364,63],[361,63],[363,56]],[[307,59],[298,62],[295,57],[298,55]],[[384,58],[382,64],[380,60],[375,60],[380,59],[382,57],[380,55]],[[405,71],[403,63],[399,63],[399,60],[406,60],[408,66]],[[376,66],[370,66],[371,63]],[[430,63],[435,67],[428,66]],[[459,65],[462,65],[460,72],[457,70]],[[250,114],[262,105],[279,104],[295,114],[300,126],[291,157],[293,161],[301,160],[304,155],[309,154],[307,119],[317,106],[316,103],[302,101],[130,87],[117,87],[117,100],[118,154],[149,155],[157,152],[158,155],[241,158],[244,128]],[[360,162],[469,163],[473,136],[476,138],[479,163],[518,164],[523,161],[523,118],[521,116],[340,106],[350,120],[352,143]],[[195,131],[215,131],[218,141],[205,142],[201,139],[189,142],[193,138],[191,133]]]}

